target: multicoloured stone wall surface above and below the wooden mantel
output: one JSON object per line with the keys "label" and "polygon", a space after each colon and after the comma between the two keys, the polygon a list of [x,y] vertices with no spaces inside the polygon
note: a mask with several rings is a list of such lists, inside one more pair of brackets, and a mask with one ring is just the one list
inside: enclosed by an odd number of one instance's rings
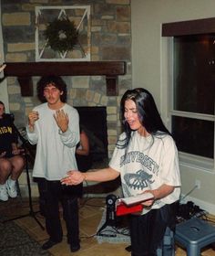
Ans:
{"label": "multicoloured stone wall surface above and below the wooden mantel", "polygon": [[[2,29],[5,62],[36,61],[36,6],[90,5],[91,60],[123,60],[127,74],[118,78],[118,96],[106,95],[104,77],[64,77],[67,82],[67,102],[73,106],[107,107],[108,156],[113,153],[118,134],[119,101],[131,88],[131,16],[129,0],[2,0]],[[9,108],[15,114],[16,127],[26,126],[27,113],[40,102],[34,96],[22,97],[15,77],[7,78]]]}

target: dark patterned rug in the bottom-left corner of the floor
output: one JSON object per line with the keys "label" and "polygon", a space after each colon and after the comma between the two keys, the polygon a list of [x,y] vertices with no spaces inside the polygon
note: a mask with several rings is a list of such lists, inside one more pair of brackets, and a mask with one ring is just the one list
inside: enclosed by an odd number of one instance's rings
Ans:
{"label": "dark patterned rug in the bottom-left corner of the floor", "polygon": [[48,251],[33,240],[15,221],[3,223],[0,219],[0,255],[1,256],[51,256]]}

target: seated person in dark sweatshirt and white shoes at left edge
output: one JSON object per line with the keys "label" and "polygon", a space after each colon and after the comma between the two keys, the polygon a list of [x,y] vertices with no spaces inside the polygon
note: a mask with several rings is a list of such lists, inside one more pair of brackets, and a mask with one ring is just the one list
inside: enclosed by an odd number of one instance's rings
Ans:
{"label": "seated person in dark sweatshirt and white shoes at left edge", "polygon": [[21,175],[25,160],[20,155],[24,150],[18,148],[17,134],[13,121],[5,114],[5,104],[0,101],[0,200],[17,197],[16,180]]}

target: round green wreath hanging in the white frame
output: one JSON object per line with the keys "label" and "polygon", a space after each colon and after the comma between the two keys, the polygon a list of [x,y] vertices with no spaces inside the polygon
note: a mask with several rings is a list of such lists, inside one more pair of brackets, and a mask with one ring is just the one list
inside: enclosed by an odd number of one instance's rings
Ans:
{"label": "round green wreath hanging in the white frame", "polygon": [[46,27],[44,36],[47,46],[64,53],[67,50],[73,50],[77,45],[78,31],[74,21],[70,21],[68,18],[56,18]]}

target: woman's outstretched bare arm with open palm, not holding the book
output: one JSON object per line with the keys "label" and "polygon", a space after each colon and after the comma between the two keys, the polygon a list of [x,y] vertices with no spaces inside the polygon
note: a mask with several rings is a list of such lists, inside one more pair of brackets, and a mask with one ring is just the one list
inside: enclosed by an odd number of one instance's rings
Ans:
{"label": "woman's outstretched bare arm with open palm, not holding the book", "polygon": [[87,173],[81,173],[79,171],[68,171],[67,177],[61,180],[62,184],[65,185],[78,185],[83,181],[97,181],[104,182],[116,179],[120,173],[111,167],[104,169],[92,170]]}

